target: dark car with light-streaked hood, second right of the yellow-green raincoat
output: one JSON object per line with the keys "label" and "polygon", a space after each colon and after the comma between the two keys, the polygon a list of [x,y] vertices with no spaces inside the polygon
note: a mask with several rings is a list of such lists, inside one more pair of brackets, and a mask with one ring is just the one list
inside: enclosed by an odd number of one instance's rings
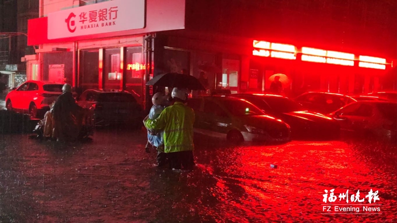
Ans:
{"label": "dark car with light-streaked hood, second right of the yellow-green raincoat", "polygon": [[233,94],[233,97],[245,99],[266,114],[279,118],[291,126],[295,138],[335,138],[339,136],[339,125],[332,118],[307,111],[299,103],[279,95],[269,94]]}

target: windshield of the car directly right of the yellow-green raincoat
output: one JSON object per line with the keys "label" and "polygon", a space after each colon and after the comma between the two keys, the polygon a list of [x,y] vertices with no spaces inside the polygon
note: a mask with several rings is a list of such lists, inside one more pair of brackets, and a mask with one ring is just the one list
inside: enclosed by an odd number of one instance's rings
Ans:
{"label": "windshield of the car directly right of the yellow-green raincoat", "polygon": [[263,111],[244,99],[219,100],[219,102],[234,116],[264,114]]}

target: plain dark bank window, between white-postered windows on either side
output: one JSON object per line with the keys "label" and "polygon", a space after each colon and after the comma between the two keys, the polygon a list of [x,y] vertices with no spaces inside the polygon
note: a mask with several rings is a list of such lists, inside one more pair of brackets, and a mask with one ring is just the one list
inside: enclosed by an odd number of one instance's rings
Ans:
{"label": "plain dark bank window, between white-postered windows on either side", "polygon": [[79,87],[82,90],[98,89],[99,51],[81,51],[79,67]]}

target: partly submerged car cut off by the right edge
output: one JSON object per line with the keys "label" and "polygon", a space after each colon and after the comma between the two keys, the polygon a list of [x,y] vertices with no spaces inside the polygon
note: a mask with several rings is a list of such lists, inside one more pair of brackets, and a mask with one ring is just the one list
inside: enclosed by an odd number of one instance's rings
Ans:
{"label": "partly submerged car cut off by the right edge", "polygon": [[396,142],[397,103],[361,101],[330,114],[345,133]]}

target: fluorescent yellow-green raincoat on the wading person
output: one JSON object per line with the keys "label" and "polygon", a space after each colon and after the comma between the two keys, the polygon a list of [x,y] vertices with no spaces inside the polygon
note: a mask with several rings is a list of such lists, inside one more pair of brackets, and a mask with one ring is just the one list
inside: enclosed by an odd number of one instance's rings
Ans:
{"label": "fluorescent yellow-green raincoat on the wading person", "polygon": [[146,120],[148,129],[164,130],[164,152],[174,153],[194,150],[193,124],[195,112],[181,102],[174,103],[154,120]]}

